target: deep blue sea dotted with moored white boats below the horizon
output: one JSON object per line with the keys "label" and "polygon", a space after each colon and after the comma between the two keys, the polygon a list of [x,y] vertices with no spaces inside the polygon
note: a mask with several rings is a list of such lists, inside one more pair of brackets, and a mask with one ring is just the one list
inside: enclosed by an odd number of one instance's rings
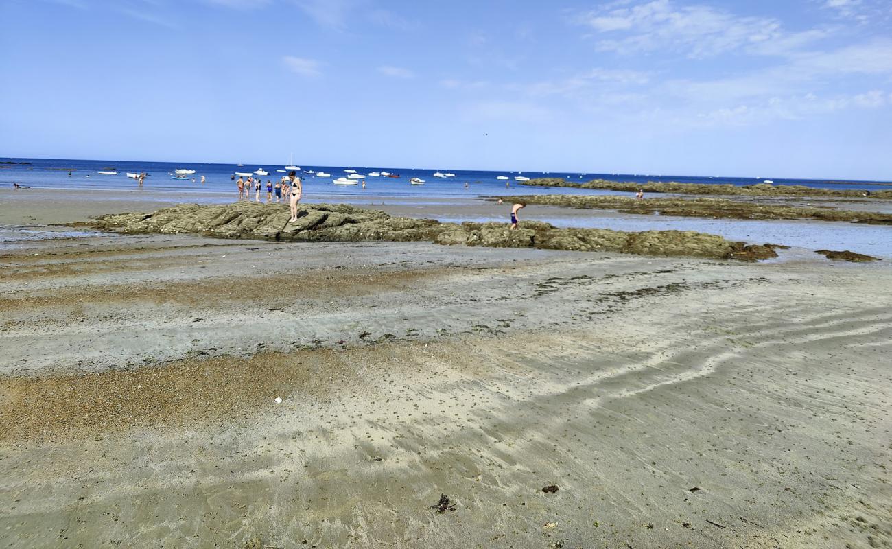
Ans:
{"label": "deep blue sea dotted with moored white boats below the horizon", "polygon": [[[235,192],[235,182],[232,176],[235,171],[252,172],[263,168],[269,172],[262,179],[276,181],[285,173],[284,166],[269,164],[211,164],[188,162],[131,162],[108,160],[64,160],[64,159],[28,159],[9,158],[0,159],[0,162],[19,162],[15,164],[0,164],[0,185],[7,186],[12,183],[28,187],[45,188],[72,188],[107,190],[110,193],[120,189],[136,188],[136,181],[128,179],[126,173],[145,171],[148,177],[145,179],[145,188],[156,191],[194,190],[196,192]],[[29,162],[29,163],[21,163]],[[113,168],[118,175],[99,175],[98,171]],[[177,169],[194,170],[192,179],[171,179],[170,174]],[[466,171],[441,169],[443,172],[451,172],[455,178],[434,178],[434,171],[417,170],[411,168],[388,166],[304,166],[301,171],[325,171],[330,173],[330,178],[318,178],[314,175],[301,173],[306,192],[310,195],[351,195],[361,188],[360,186],[339,187],[333,184],[332,179],[345,177],[346,169],[356,170],[359,173],[368,174],[371,171],[389,171],[400,174],[400,178],[368,177],[366,179],[366,191],[370,195],[378,196],[491,196],[508,194],[576,194],[583,192],[591,194],[591,190],[566,189],[556,187],[523,187],[514,179],[518,176],[531,179],[540,177],[564,178],[569,181],[589,181],[591,179],[608,179],[614,181],[635,181],[644,183],[647,181],[680,181],[683,183],[706,184],[731,184],[752,185],[758,183],[755,178],[724,178],[724,177],[691,177],[678,175],[648,175],[648,174],[611,174],[611,173],[568,173],[568,172],[511,172],[511,171]],[[70,171],[70,175],[69,175]],[[200,184],[201,176],[205,176],[205,184]],[[506,181],[497,179],[499,176],[508,176],[510,187],[506,187]],[[420,178],[425,180],[424,186],[413,186],[409,179]],[[860,181],[856,184],[840,185],[838,182],[819,179],[772,179],[775,185],[805,185],[807,187],[822,188],[867,188],[875,189],[876,185],[883,184],[880,181]],[[465,184],[467,183],[467,188]],[[892,184],[888,184],[892,185]],[[610,194],[610,193],[605,193]]]}

